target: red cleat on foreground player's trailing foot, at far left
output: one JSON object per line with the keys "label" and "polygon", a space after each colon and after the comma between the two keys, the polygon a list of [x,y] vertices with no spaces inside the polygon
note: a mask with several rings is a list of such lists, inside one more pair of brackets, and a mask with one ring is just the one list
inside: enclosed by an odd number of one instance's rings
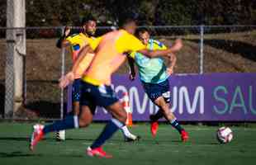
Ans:
{"label": "red cleat on foreground player's trailing foot, at far left", "polygon": [[44,125],[34,125],[33,126],[33,133],[31,135],[31,141],[30,141],[30,149],[31,151],[34,150],[36,144],[40,141],[40,139],[42,139],[44,137]]}

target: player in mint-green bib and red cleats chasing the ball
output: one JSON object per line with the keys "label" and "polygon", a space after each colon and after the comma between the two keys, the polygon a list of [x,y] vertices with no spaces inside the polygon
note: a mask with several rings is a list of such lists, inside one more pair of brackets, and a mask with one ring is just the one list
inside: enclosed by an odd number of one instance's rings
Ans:
{"label": "player in mint-green bib and red cleats chasing the ball", "polygon": [[[139,39],[149,50],[166,50],[167,47],[159,42],[158,40],[150,39],[149,31],[145,28],[138,32]],[[130,60],[130,57],[133,60]],[[140,52],[132,52],[128,57],[130,64],[130,79],[135,78],[135,68],[133,62],[139,70],[140,82],[142,83],[145,92],[147,93],[149,99],[154,102],[156,106],[159,106],[159,111],[155,115],[150,115],[151,120],[151,134],[155,137],[158,130],[158,120],[164,117],[169,121],[179,134],[181,134],[181,139],[187,141],[188,134],[183,129],[183,127],[178,123],[175,115],[169,110],[170,102],[170,92],[169,92],[169,82],[168,77],[173,73],[173,67],[176,64],[176,56],[171,54],[171,63],[168,68],[164,64],[164,59],[154,58],[150,59]]]}

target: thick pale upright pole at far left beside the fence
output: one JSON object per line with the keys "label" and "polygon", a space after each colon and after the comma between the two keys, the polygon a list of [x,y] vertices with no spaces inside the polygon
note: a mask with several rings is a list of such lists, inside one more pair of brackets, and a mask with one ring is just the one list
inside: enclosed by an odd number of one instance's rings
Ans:
{"label": "thick pale upright pole at far left beside the fence", "polygon": [[26,55],[26,1],[7,0],[6,118],[15,117],[24,99],[24,56]]}

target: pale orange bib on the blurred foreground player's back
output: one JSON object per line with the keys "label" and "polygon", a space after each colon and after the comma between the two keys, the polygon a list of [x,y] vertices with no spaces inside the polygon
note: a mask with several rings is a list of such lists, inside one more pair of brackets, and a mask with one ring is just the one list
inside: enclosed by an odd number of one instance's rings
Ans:
{"label": "pale orange bib on the blurred foreground player's back", "polygon": [[[120,65],[126,60],[118,44],[121,36],[126,35],[126,31],[111,31],[102,35],[95,56],[83,79],[97,80],[98,83],[111,84],[111,74],[116,72]],[[87,80],[86,80],[87,81]]]}

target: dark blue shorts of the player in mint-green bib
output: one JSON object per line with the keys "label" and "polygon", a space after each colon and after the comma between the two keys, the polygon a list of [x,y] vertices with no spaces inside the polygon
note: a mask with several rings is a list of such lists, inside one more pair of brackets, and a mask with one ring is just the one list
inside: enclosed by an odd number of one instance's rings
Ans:
{"label": "dark blue shorts of the player in mint-green bib", "polygon": [[164,97],[164,100],[169,103],[171,100],[171,92],[169,91],[168,79],[160,83],[142,82],[142,85],[151,101],[155,101],[158,97]]}

